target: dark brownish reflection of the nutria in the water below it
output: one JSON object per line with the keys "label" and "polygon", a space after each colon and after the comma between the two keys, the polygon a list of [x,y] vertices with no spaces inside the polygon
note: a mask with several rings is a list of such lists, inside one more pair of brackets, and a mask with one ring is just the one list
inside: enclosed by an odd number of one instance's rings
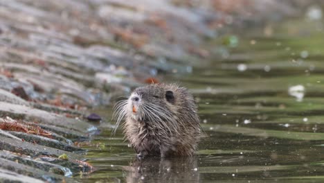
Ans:
{"label": "dark brownish reflection of the nutria in the water below it", "polygon": [[145,157],[125,170],[127,182],[199,182],[197,157]]}

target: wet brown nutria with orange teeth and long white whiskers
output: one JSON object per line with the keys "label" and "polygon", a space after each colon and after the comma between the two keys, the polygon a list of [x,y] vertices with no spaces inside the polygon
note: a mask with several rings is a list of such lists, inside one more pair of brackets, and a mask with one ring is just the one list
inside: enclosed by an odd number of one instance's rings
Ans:
{"label": "wet brown nutria with orange teeth and long white whiskers", "polygon": [[174,84],[136,88],[116,105],[113,116],[116,128],[125,117],[125,137],[140,157],[190,156],[200,139],[195,100]]}

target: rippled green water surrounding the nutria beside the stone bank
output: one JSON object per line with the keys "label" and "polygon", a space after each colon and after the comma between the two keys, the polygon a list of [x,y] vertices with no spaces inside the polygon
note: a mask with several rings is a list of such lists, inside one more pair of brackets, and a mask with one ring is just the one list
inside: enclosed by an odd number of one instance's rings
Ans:
{"label": "rippled green water surrounding the nutria beside the stone bank", "polygon": [[[233,34],[233,48],[222,49],[231,37],[219,37],[208,46],[223,57],[166,76],[199,101],[205,134],[194,157],[140,161],[121,130],[111,138],[111,124],[102,123],[102,133],[86,146],[97,170],[82,180],[324,182],[323,25],[282,22],[270,36],[265,29]],[[111,108],[96,112],[110,121]]]}

